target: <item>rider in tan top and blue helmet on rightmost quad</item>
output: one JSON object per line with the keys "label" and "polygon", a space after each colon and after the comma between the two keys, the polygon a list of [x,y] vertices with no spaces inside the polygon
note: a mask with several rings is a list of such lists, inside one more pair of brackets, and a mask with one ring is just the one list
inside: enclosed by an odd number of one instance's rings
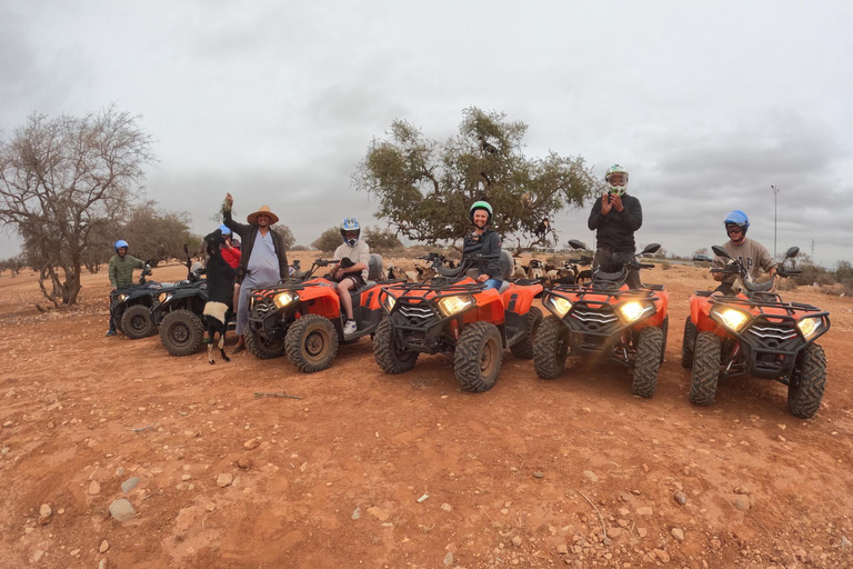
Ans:
{"label": "rider in tan top and blue helmet on rightmost quad", "polygon": [[[723,243],[723,249],[732,259],[736,259],[750,273],[750,277],[754,280],[757,279],[761,269],[764,269],[773,280],[769,292],[776,290],[779,279],[776,277],[776,261],[770,254],[767,249],[757,241],[749,239],[746,237],[746,230],[750,228],[750,218],[746,213],[736,209],[730,211],[725,216],[723,221],[725,226],[725,232],[729,236],[729,241]],[[722,269],[725,267],[726,260],[720,257],[714,259],[714,267]],[[734,284],[736,274],[725,274],[722,272],[713,272],[714,280],[721,282],[721,284],[714,290],[714,293],[722,293],[724,296],[735,295],[732,284]]]}

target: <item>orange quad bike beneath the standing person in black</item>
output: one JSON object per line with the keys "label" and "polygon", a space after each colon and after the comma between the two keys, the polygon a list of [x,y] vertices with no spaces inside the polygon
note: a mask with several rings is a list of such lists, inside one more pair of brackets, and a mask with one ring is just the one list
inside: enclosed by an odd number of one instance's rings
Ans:
{"label": "orange quad bike beneath the standing person in black", "polygon": [[[660,247],[649,244],[638,257]],[[559,378],[570,355],[611,360],[633,370],[635,395],[652,397],[666,349],[670,293],[663,284],[628,286],[630,271],[652,268],[654,264],[634,260],[620,272],[594,271],[588,284],[545,290],[542,305],[552,316],[542,322],[536,337],[536,375]]]}

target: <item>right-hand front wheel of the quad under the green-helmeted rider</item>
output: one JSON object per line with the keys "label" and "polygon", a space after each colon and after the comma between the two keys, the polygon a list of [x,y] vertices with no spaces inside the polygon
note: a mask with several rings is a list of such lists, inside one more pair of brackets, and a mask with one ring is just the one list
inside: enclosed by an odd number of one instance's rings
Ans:
{"label": "right-hand front wheel of the quad under the green-helmeted rider", "polygon": [[453,370],[463,391],[482,393],[498,381],[503,358],[501,331],[491,322],[468,325],[456,342]]}

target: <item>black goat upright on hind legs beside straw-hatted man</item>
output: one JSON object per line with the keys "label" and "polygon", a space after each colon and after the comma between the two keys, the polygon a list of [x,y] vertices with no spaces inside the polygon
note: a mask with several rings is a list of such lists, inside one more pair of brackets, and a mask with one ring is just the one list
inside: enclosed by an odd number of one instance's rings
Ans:
{"label": "black goat upright on hind legs beside straw-hatted man", "polygon": [[219,246],[224,242],[222,231],[217,229],[204,237],[204,244],[208,251],[208,301],[204,303],[204,325],[208,329],[208,362],[213,361],[213,340],[219,332],[219,353],[222,359],[231,361],[225,356],[225,332],[228,331],[228,312],[231,310],[231,302],[234,292],[234,270],[222,258]]}

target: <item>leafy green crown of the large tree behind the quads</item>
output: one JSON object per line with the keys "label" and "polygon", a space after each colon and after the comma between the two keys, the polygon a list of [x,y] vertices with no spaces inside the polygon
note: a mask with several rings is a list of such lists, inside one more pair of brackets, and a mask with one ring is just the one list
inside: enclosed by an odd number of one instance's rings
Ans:
{"label": "leafy green crown of the large tree behind the quads", "polygon": [[528,249],[555,242],[553,232],[535,233],[540,223],[582,207],[601,188],[583,158],[528,158],[523,122],[475,107],[462,114],[459,134],[443,143],[393,121],[387,139],[369,146],[353,183],[379,200],[378,217],[414,241],[461,239],[470,229],[469,207],[484,199],[504,240],[524,240]]}

